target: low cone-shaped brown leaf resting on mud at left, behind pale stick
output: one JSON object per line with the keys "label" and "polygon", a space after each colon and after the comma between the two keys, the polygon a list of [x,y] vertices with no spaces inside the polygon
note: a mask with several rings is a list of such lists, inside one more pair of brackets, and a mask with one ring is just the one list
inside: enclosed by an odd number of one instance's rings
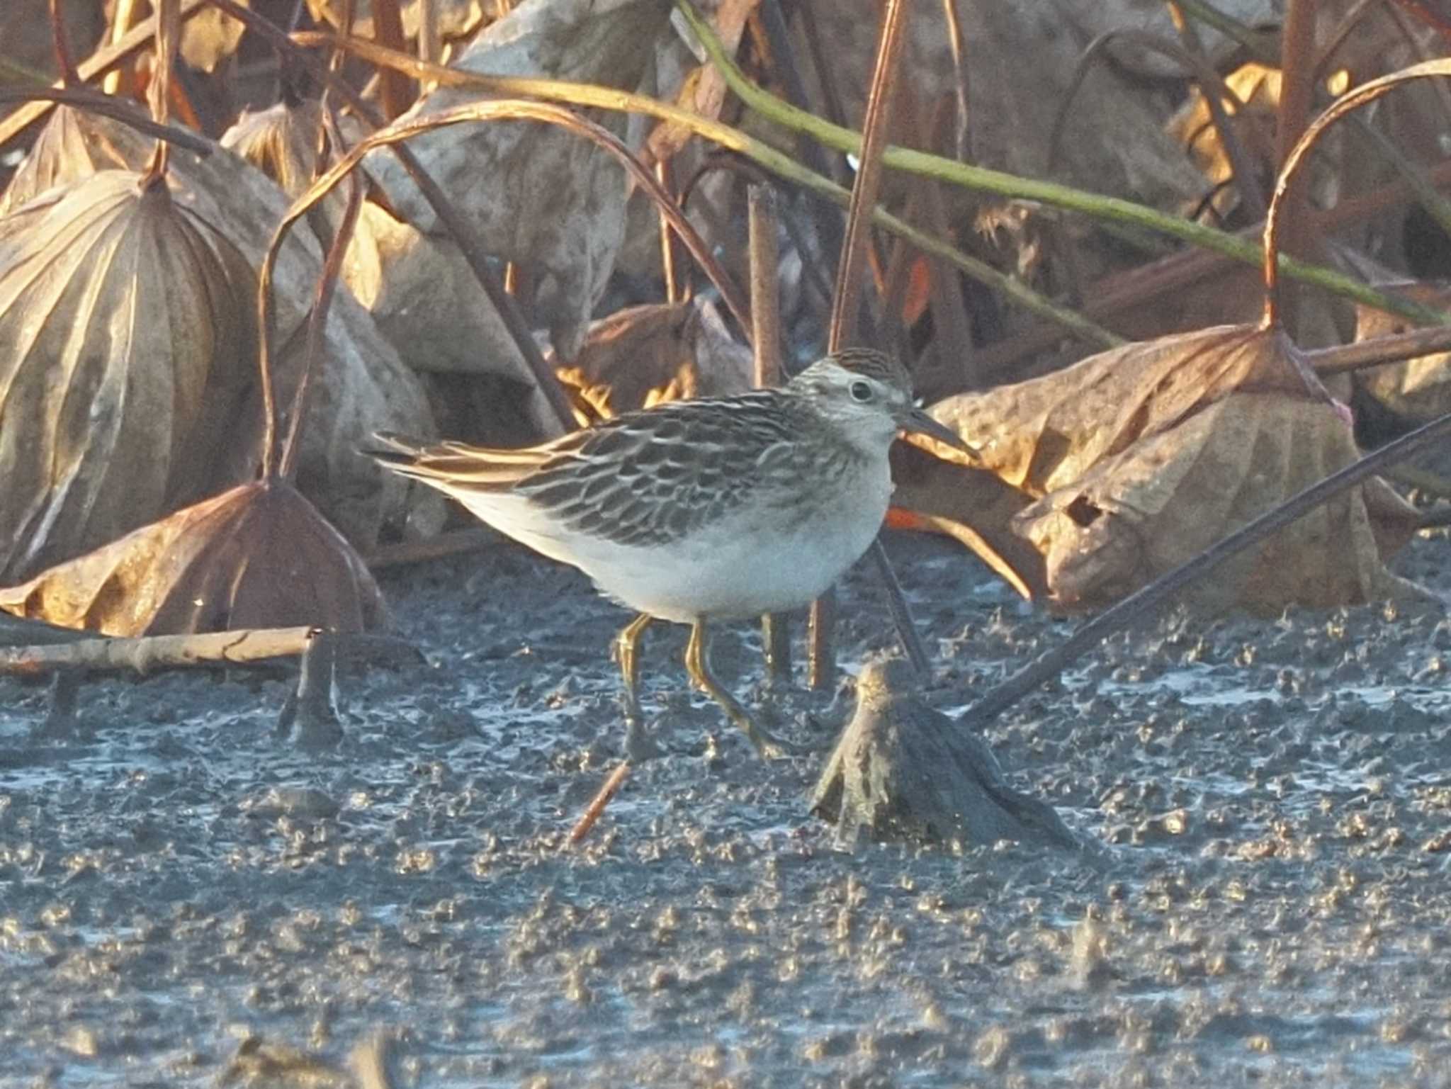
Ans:
{"label": "low cone-shaped brown leaf resting on mud at left, behind pale stick", "polygon": [[112,636],[374,627],[367,565],[290,485],[245,484],[0,590],[0,608]]}

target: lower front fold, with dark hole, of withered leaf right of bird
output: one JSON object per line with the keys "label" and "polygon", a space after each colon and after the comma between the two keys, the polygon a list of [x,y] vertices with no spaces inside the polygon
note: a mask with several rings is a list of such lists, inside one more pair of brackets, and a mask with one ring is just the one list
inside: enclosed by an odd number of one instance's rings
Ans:
{"label": "lower front fold, with dark hole, of withered leaf right of bird", "polygon": [[[1107,605],[1358,456],[1351,428],[1329,405],[1233,393],[1104,459],[1026,510],[1019,526],[1046,558],[1056,607]],[[1370,489],[1377,495],[1368,502]],[[1415,517],[1373,481],[1232,558],[1191,600],[1210,613],[1274,614],[1425,597],[1386,571],[1393,549],[1378,540],[1399,547]]]}

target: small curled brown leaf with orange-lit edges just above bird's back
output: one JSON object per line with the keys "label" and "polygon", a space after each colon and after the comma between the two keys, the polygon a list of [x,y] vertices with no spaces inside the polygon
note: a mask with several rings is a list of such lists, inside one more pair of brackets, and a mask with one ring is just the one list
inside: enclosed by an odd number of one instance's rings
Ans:
{"label": "small curled brown leaf with orange-lit edges just above bird's back", "polygon": [[593,415],[607,420],[663,401],[750,389],[750,348],[731,340],[714,303],[631,306],[589,327],[572,366],[559,367]]}

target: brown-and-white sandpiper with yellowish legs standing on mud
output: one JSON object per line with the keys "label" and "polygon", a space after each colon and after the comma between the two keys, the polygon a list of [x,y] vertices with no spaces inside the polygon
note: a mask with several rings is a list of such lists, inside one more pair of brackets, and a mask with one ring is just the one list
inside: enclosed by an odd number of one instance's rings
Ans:
{"label": "brown-and-white sandpiper with yellowish legs standing on mud", "polygon": [[653,748],[637,696],[651,620],[691,626],[691,680],[762,755],[779,755],[711,672],[705,626],[804,605],[866,552],[887,515],[898,431],[968,450],[913,404],[898,362],[846,348],[775,389],[625,412],[527,450],[380,434],[389,449],[367,453],[638,613],[615,637],[631,758]]}

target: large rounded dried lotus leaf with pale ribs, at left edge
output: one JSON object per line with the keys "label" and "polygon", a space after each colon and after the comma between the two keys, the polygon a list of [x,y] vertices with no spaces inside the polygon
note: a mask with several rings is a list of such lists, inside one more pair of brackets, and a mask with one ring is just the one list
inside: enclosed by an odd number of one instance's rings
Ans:
{"label": "large rounded dried lotus leaf with pale ribs, at left edge", "polygon": [[194,497],[255,367],[250,266],[138,182],[100,171],[0,221],[0,578]]}

